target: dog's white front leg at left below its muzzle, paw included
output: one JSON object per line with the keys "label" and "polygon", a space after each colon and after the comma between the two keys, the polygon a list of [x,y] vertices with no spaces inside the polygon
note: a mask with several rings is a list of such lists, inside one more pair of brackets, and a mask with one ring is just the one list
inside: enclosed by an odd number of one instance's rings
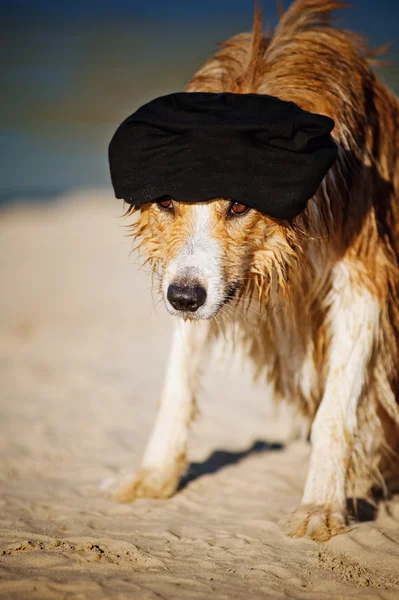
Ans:
{"label": "dog's white front leg at left below its muzzle, paw included", "polygon": [[186,466],[188,431],[208,340],[206,321],[179,323],[176,328],[161,403],[141,468],[108,486],[115,499],[167,498],[176,491]]}

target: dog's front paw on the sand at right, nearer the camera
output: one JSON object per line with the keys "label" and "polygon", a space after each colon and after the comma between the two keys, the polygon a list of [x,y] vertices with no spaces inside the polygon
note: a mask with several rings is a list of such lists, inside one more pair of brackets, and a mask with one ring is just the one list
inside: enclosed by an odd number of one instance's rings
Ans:
{"label": "dog's front paw on the sand at right, nearer the camera", "polygon": [[331,506],[301,504],[282,523],[283,531],[293,538],[310,537],[326,542],[334,535],[348,531],[345,513]]}

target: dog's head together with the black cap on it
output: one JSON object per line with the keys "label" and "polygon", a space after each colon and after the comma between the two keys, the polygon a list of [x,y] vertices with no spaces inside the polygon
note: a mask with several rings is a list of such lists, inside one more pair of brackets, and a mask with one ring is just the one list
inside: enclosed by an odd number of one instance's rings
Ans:
{"label": "dog's head together with the black cap on it", "polygon": [[292,223],[336,159],[333,127],[293,102],[230,92],[162,96],[119,126],[115,195],[141,206],[136,234],[172,314],[210,319],[255,288],[265,306],[273,275],[286,287]]}

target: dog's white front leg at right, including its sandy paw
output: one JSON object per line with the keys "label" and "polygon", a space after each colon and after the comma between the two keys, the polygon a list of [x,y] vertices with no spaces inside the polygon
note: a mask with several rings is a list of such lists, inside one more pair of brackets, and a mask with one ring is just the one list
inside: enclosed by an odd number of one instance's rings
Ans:
{"label": "dog's white front leg at right, including its sandy paw", "polygon": [[346,480],[357,412],[379,327],[379,303],[341,263],[329,299],[331,336],[324,395],[312,425],[310,468],[301,506],[285,524],[292,537],[324,541],[346,530]]}

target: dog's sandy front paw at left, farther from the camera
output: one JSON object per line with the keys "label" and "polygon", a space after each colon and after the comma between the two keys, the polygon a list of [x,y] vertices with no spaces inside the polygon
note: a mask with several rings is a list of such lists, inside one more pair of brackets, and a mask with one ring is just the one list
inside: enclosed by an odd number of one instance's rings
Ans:
{"label": "dog's sandy front paw at left, farther from the camera", "polygon": [[101,487],[118,502],[132,502],[138,498],[169,498],[176,492],[179,480],[180,469],[143,468],[107,479]]}

